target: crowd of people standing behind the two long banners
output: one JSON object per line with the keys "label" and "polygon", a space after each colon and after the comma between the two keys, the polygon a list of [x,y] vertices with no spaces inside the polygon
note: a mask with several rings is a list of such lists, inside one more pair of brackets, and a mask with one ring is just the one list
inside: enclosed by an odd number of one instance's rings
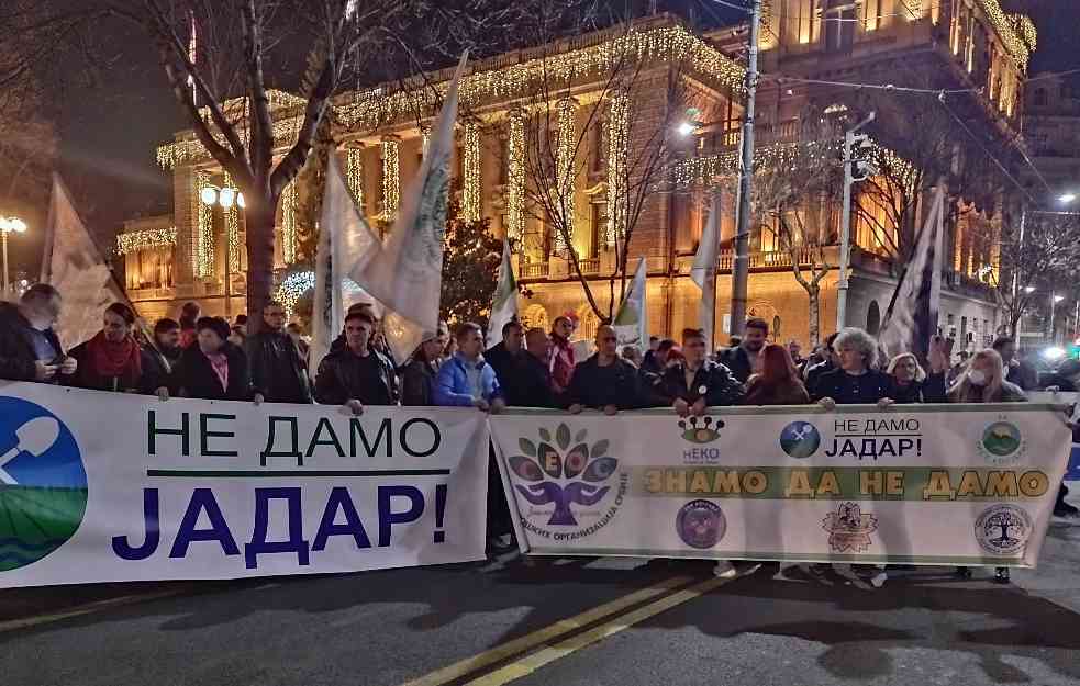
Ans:
{"label": "crowd of people standing behind the two long banners", "polygon": [[[18,304],[0,303],[0,378],[163,400],[333,404],[354,414],[378,405],[490,413],[511,405],[606,415],[670,407],[682,417],[731,405],[1021,402],[1038,386],[1038,374],[1017,359],[1011,338],[953,364],[949,341],[935,336],[924,364],[911,353],[883,359],[877,340],[857,328],[831,335],[804,359],[795,341],[769,342],[762,319],[746,322],[742,337],[722,350],[708,350],[700,329],[684,329],[679,341],[652,338],[644,355],[635,346],[620,350],[615,329],[601,325],[595,352],[579,360],[570,342],[574,323],[558,317],[550,331],[510,322],[487,350],[480,326],[464,323],[450,336],[441,324],[409,359],[394,360],[372,305],[358,304],[311,370],[302,331],[287,326],[280,303],[264,307],[253,335],[246,317],[231,325],[187,303],[179,320],[158,320],[142,341],[135,313],[116,303],[103,313],[101,330],[68,352],[53,331],[62,307],[60,294],[47,284],[32,286]],[[1064,363],[1053,387],[1080,387],[1080,361]],[[489,491],[501,494],[498,477],[492,485]],[[1080,515],[1066,493],[1062,486],[1055,514]],[[511,546],[501,495],[489,508],[497,522],[489,529],[493,547]],[[724,565],[719,573],[730,573]],[[997,578],[1006,582],[1007,570],[999,569]]]}

